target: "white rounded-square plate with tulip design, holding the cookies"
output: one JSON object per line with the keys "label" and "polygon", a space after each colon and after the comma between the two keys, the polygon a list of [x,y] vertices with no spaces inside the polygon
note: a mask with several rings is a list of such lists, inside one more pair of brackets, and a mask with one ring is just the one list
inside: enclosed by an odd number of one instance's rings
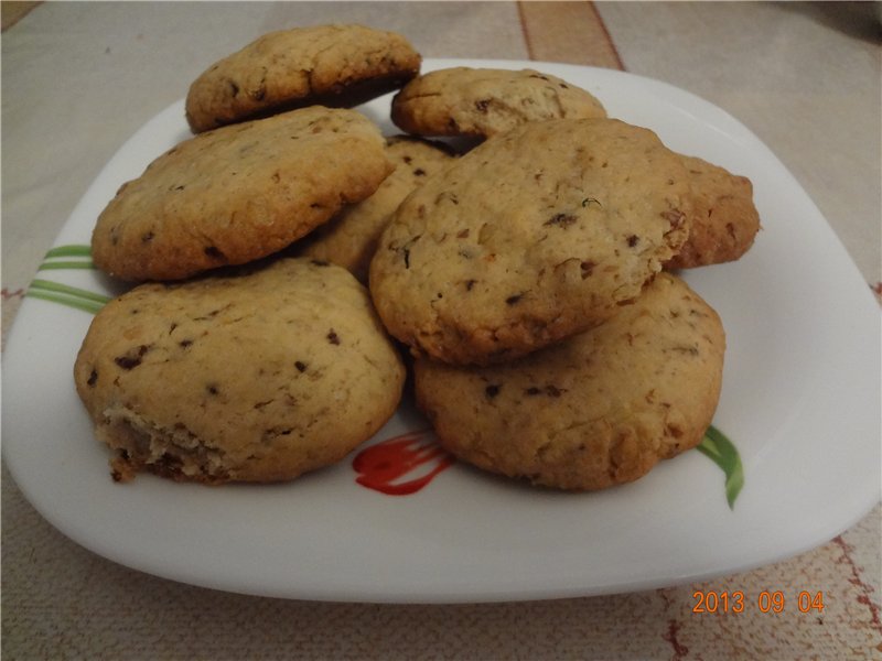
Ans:
{"label": "white rounded-square plate with tulip design, holding the cookies", "polygon": [[[613,117],[751,177],[763,220],[739,262],[685,273],[728,333],[714,425],[738,447],[744,488],[699,452],[598,494],[538,490],[455,464],[409,496],[356,483],[347,460],[287,485],[206,488],[140,476],[117,485],[73,386],[90,315],[28,299],[4,353],[3,456],[26,498],[79,544],[160,576],[240,593],[369,602],[596,595],[734,573],[808,550],[880,498],[880,314],[794,177],[746,128],[669,85],[535,62],[595,94]],[[384,132],[389,96],[362,109]],[[88,243],[125,181],[189,137],[181,102],[107,164],[56,246]],[[116,293],[92,270],[39,278]],[[426,426],[412,409],[369,444]]]}

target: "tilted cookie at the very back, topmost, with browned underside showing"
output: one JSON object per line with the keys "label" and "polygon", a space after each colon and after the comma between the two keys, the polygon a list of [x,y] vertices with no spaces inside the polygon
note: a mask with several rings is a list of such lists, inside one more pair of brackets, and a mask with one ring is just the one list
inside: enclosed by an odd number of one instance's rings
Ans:
{"label": "tilted cookie at the very back, topmost, with browned underside showing", "polygon": [[363,25],[270,32],[193,82],[186,119],[198,133],[304,106],[353,107],[398,89],[421,63],[404,36]]}

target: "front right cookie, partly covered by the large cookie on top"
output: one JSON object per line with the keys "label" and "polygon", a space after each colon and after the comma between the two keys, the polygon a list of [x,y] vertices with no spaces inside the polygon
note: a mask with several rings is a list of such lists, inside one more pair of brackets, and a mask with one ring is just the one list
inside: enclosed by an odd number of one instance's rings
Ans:
{"label": "front right cookie, partly covered by the large cookie on top", "polygon": [[415,364],[443,447],[536,485],[603,489],[701,442],[720,395],[717,313],[660,273],[605,324],[506,365]]}

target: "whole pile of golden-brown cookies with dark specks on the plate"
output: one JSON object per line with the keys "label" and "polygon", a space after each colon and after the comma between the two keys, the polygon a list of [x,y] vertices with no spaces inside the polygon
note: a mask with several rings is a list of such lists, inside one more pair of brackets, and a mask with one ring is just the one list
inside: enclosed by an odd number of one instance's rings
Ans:
{"label": "whole pile of golden-brown cookies with dark specks on the plate", "polygon": [[[700,442],[725,339],[673,270],[750,248],[750,181],[560,78],[420,64],[400,35],[326,25],[193,83],[196,136],[93,236],[98,268],[147,281],[75,367],[116,478],[337,462],[396,410],[400,348],[439,442],[490,472],[599,489]],[[390,89],[407,137],[352,109]]]}

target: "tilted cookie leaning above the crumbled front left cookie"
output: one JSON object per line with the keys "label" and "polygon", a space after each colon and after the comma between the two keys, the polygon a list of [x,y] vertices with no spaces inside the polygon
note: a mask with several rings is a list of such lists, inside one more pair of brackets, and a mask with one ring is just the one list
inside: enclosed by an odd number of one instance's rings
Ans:
{"label": "tilted cookie leaning above the crumbled front left cookie", "polygon": [[355,110],[311,107],[185,140],[123,184],[92,237],[97,268],[174,280],[276,252],[370,196],[394,165]]}

